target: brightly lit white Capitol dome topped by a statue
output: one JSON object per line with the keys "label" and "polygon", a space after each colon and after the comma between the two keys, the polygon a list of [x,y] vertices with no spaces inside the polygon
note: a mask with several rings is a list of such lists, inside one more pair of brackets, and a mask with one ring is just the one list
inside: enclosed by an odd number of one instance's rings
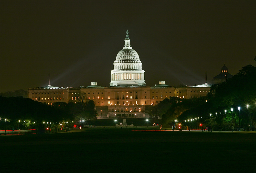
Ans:
{"label": "brightly lit white Capitol dome topped by a statue", "polygon": [[130,45],[128,30],[125,45],[116,56],[114,70],[111,71],[110,86],[145,86],[144,73],[140,57]]}

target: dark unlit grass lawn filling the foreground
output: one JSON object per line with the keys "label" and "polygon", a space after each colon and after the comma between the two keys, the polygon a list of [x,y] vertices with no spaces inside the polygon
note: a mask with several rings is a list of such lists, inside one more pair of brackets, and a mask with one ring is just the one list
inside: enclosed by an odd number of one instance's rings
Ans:
{"label": "dark unlit grass lawn filling the foreground", "polygon": [[256,133],[131,130],[0,136],[0,172],[256,171]]}

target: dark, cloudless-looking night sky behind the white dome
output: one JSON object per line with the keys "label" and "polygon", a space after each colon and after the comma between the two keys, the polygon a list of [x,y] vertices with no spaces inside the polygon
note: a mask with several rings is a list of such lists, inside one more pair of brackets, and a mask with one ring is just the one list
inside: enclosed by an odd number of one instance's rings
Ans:
{"label": "dark, cloudless-looking night sky behind the white dome", "polygon": [[109,86],[126,30],[146,86],[255,65],[256,1],[1,1],[0,92]]}

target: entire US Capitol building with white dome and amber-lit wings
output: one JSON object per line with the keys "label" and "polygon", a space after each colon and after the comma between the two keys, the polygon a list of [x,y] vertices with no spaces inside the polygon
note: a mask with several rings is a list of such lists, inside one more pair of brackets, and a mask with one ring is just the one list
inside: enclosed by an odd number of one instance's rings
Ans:
{"label": "entire US Capitol building with white dome and amber-lit wings", "polygon": [[[80,88],[53,87],[50,83],[42,88],[29,88],[28,98],[51,105],[54,102],[78,102],[78,97],[93,100],[98,112],[97,118],[148,117],[151,105],[177,97],[187,99],[206,96],[210,91],[207,83],[197,86],[174,87],[160,81],[158,85],[146,86],[144,70],[137,52],[130,45],[128,30],[125,45],[114,61],[109,87],[101,87],[97,82]],[[223,72],[223,71],[222,71]]]}

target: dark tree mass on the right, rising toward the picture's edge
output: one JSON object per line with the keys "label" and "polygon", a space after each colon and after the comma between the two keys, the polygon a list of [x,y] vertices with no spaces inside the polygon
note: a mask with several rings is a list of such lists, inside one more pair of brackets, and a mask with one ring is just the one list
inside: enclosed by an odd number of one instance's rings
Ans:
{"label": "dark tree mass on the right, rising toward the picture's edge", "polygon": [[191,128],[199,128],[199,124],[216,129],[225,129],[226,126],[227,130],[232,125],[253,127],[256,114],[255,76],[256,66],[247,65],[226,82],[212,85],[207,97],[165,99],[152,106],[151,116],[169,126],[178,120]]}

